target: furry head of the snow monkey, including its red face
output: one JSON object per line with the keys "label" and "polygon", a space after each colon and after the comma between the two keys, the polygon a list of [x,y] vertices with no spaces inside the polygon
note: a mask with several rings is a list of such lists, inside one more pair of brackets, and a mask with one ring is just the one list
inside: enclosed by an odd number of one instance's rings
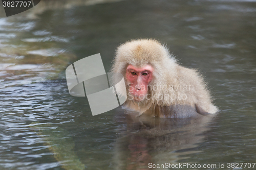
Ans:
{"label": "furry head of the snow monkey, including its red face", "polygon": [[[176,61],[168,49],[152,39],[132,40],[121,44],[116,51],[112,71],[123,75],[128,98],[135,102],[152,100],[161,86],[175,77]],[[154,90],[153,90],[154,88]]]}

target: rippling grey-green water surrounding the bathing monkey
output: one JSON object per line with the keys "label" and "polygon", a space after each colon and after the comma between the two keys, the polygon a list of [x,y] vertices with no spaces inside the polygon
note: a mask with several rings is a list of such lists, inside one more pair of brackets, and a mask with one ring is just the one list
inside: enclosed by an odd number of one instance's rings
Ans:
{"label": "rippling grey-green water surrounding the bathing monkey", "polygon": [[[0,169],[255,162],[254,1],[55,2],[0,18]],[[179,63],[199,68],[220,113],[92,116],[86,98],[69,94],[66,67],[100,53],[108,71],[115,48],[135,38],[166,43]]]}

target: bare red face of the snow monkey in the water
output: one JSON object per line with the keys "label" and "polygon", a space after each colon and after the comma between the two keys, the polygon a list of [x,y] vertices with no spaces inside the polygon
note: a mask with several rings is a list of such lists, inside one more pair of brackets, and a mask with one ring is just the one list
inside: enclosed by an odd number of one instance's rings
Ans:
{"label": "bare red face of the snow monkey in the water", "polygon": [[126,80],[129,81],[129,91],[134,96],[134,100],[141,101],[146,98],[148,83],[153,78],[154,68],[146,65],[142,68],[129,65],[126,69]]}

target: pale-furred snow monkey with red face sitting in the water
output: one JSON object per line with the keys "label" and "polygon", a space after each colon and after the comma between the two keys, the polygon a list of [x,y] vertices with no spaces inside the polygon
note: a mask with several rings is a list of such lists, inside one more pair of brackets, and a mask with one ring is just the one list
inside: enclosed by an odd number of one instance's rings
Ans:
{"label": "pale-furred snow monkey with red face sitting in the water", "polygon": [[218,111],[202,76],[195,69],[179,65],[166,46],[156,40],[121,44],[112,71],[124,77],[127,100],[123,107],[138,115],[186,118]]}

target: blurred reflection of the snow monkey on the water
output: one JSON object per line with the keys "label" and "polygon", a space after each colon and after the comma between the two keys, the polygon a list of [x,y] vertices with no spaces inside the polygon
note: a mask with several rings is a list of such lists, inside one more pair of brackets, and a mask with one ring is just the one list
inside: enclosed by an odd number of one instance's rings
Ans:
{"label": "blurred reflection of the snow monkey on the water", "polygon": [[136,117],[136,113],[126,113],[122,121],[127,122],[127,129],[115,143],[115,169],[142,170],[152,169],[148,163],[179,163],[178,160],[186,158],[181,155],[199,152],[193,148],[204,141],[202,133],[208,130],[207,125],[214,117],[199,115],[197,118],[173,119],[143,114]]}

